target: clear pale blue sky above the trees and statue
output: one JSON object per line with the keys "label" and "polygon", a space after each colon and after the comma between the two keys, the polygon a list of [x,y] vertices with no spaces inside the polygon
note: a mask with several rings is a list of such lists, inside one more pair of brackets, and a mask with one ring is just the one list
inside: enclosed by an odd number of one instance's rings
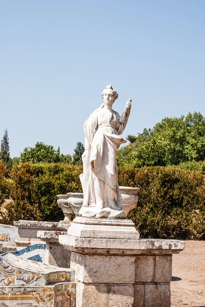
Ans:
{"label": "clear pale blue sky above the trees and statue", "polygon": [[0,0],[0,139],[72,154],[104,83],[132,98],[123,137],[205,116],[204,0]]}

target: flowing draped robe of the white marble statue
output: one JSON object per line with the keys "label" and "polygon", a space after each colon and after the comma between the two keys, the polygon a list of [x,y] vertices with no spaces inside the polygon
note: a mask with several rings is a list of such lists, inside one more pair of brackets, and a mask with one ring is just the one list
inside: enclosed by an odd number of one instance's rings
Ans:
{"label": "flowing draped robe of the white marble statue", "polygon": [[115,111],[95,110],[84,124],[85,140],[90,146],[90,158],[83,161],[81,183],[84,207],[121,209],[116,153],[126,141],[119,136],[124,121]]}

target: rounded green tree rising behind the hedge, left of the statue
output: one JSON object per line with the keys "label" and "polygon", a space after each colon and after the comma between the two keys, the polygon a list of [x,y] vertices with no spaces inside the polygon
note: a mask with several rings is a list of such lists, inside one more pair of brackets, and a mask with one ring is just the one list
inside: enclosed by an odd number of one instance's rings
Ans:
{"label": "rounded green tree rising behind the hedge, left of the statue", "polygon": [[60,153],[60,148],[55,150],[51,145],[37,142],[35,147],[27,147],[20,153],[21,162],[29,163],[72,163],[71,155],[64,156]]}

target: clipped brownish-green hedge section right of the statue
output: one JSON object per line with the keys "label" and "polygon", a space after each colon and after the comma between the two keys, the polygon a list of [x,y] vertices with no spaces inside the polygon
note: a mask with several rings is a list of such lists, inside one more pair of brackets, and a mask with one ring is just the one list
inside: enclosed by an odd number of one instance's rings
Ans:
{"label": "clipped brownish-green hedge section right of the statue", "polygon": [[176,166],[119,169],[120,185],[141,189],[128,218],[144,237],[205,239],[204,180]]}

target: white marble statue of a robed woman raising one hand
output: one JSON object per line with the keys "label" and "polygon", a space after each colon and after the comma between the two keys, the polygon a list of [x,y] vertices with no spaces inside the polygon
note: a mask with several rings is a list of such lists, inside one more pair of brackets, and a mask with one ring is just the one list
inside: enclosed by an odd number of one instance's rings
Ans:
{"label": "white marble statue of a robed woman raising one hand", "polygon": [[105,84],[101,104],[86,120],[85,151],[82,155],[83,174],[80,179],[83,188],[82,216],[124,218],[123,203],[118,184],[116,153],[126,141],[123,133],[130,114],[131,99],[126,102],[122,116],[113,111],[112,104],[118,93]]}

